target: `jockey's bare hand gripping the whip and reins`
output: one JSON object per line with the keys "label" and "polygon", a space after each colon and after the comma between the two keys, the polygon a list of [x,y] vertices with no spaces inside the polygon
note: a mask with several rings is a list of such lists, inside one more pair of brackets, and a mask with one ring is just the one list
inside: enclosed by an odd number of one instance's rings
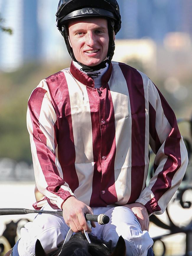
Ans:
{"label": "jockey's bare hand gripping the whip and reins", "polygon": [[[75,197],[69,197],[63,203],[62,208],[64,221],[73,232],[77,233],[83,230],[91,232],[84,215],[85,213],[93,214],[89,206],[77,200]],[[91,222],[91,225],[95,228],[94,221]]]}

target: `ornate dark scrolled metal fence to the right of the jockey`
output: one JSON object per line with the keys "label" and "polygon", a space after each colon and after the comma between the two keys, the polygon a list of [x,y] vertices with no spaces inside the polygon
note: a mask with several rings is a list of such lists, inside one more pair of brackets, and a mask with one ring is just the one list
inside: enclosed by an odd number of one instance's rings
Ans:
{"label": "ornate dark scrolled metal fence to the right of the jockey", "polygon": [[[178,125],[184,127],[182,136],[188,151],[189,163],[186,170],[186,174],[183,177],[183,181],[180,184],[180,187],[178,188],[174,199],[167,206],[166,218],[165,218],[167,221],[166,222],[162,221],[157,215],[152,215],[149,218],[151,223],[154,223],[157,227],[160,227],[166,231],[165,232],[166,234],[153,237],[154,245],[157,241],[161,242],[162,244],[161,253],[158,252],[158,255],[162,255],[162,256],[167,255],[167,245],[163,240],[165,240],[165,238],[167,238],[168,236],[171,236],[173,234],[180,234],[180,233],[186,235],[185,244],[183,244],[183,247],[185,247],[185,254],[183,256],[192,255],[192,215],[186,225],[179,225],[179,224],[175,224],[174,214],[171,215],[169,212],[171,204],[173,204],[175,201],[178,201],[179,205],[183,209],[191,208],[191,204],[192,204],[192,197],[190,193],[188,193],[189,191],[192,191],[192,154],[191,154],[192,153],[192,119],[191,120],[179,119]],[[150,175],[151,177],[153,175],[153,166],[151,166]],[[190,196],[186,200],[187,193]],[[181,214],[180,216],[181,221],[183,220],[183,218],[184,217]]]}

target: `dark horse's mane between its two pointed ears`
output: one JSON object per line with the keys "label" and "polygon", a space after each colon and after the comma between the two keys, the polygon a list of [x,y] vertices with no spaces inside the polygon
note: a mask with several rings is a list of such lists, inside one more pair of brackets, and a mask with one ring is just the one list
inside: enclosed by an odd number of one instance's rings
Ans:
{"label": "dark horse's mane between its two pointed ears", "polygon": [[[74,234],[68,242],[66,242],[62,249],[61,256],[108,256],[111,251],[106,247],[101,240],[97,239],[92,234],[89,234],[91,244],[87,241],[86,237],[82,233]],[[61,250],[62,243],[59,244],[58,250],[54,251],[48,256],[57,256]]]}

